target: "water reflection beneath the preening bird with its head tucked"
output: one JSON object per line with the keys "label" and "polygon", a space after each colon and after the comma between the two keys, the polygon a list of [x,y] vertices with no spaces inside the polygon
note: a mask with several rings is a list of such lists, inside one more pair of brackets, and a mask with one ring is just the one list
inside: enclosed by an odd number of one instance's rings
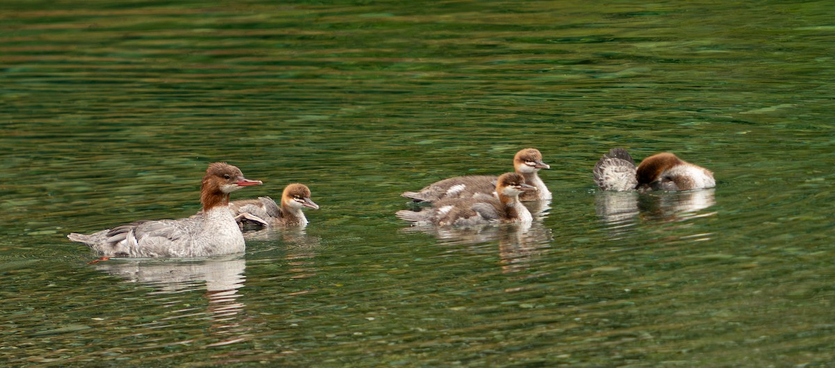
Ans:
{"label": "water reflection beneath the preening bird with its head tucked", "polygon": [[629,232],[637,219],[655,222],[676,222],[712,216],[703,212],[716,204],[715,189],[683,192],[610,192],[601,191],[595,198],[595,209],[617,238]]}

